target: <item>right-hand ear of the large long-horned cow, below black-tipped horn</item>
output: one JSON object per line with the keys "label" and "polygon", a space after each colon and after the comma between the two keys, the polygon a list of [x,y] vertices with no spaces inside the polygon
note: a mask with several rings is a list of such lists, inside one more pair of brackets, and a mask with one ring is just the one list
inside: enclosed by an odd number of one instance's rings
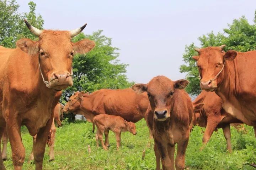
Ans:
{"label": "right-hand ear of the large long-horned cow, below black-tipped horn", "polygon": [[91,51],[95,47],[95,42],[92,40],[84,39],[73,44],[75,53],[84,54]]}

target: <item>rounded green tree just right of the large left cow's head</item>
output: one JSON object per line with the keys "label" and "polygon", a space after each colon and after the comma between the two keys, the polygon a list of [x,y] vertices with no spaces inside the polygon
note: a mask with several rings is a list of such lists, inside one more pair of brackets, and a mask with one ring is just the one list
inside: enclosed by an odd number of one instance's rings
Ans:
{"label": "rounded green tree just right of the large left cow's head", "polygon": [[[133,83],[127,81],[127,64],[119,63],[116,52],[118,48],[111,46],[111,38],[102,35],[102,30],[92,35],[80,33],[73,41],[81,39],[94,40],[95,48],[85,55],[76,55],[73,59],[73,86],[63,91],[62,101],[68,98],[74,91],[86,90],[93,92],[98,89],[124,89]],[[64,102],[65,103],[65,102]]]}

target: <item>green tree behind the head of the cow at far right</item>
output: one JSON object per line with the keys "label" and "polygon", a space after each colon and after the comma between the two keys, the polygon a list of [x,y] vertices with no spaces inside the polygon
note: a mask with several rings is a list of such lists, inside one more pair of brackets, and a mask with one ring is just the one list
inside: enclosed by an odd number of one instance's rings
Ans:
{"label": "green tree behind the head of the cow at far right", "polygon": [[246,52],[255,50],[256,47],[256,11],[255,24],[250,25],[247,19],[242,16],[239,19],[234,19],[232,24],[228,24],[228,28],[223,29],[224,34],[218,33],[215,35],[210,32],[198,38],[201,42],[201,47],[194,46],[194,43],[185,46],[183,61],[186,64],[180,66],[181,73],[187,73],[186,79],[190,81],[186,91],[191,95],[198,95],[201,92],[199,83],[199,73],[196,67],[196,62],[192,56],[198,55],[194,48],[205,48],[208,46],[220,46],[226,44],[224,50],[236,50]]}

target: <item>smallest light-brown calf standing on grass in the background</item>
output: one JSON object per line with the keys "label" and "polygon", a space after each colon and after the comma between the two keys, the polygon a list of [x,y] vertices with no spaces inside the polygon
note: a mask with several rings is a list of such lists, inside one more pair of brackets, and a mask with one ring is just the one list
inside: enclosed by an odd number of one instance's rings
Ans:
{"label": "smallest light-brown calf standing on grass in the background", "polygon": [[[94,132],[95,124],[97,126],[97,132],[95,135],[97,147],[99,147],[98,140],[100,139],[104,150],[107,150],[107,147],[105,146],[105,144],[102,140],[102,135],[105,131],[111,130],[116,134],[117,150],[120,147],[121,132],[129,131],[133,135],[137,134],[135,124],[132,123],[131,121],[128,122],[128,121],[124,120],[120,116],[113,116],[113,115],[108,115],[108,114],[100,114],[100,115],[95,116],[92,121],[92,132]],[[105,143],[108,143],[108,141],[105,141]]]}

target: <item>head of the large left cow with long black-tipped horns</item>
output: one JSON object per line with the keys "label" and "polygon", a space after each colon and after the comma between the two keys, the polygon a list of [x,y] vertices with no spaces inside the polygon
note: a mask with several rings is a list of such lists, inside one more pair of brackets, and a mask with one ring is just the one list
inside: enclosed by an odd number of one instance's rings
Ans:
{"label": "head of the large left cow with long black-tipped horns", "polygon": [[30,31],[39,37],[38,41],[20,39],[16,45],[22,51],[37,57],[39,71],[48,88],[56,91],[66,89],[73,85],[72,60],[76,53],[86,53],[94,48],[95,43],[91,40],[71,42],[71,38],[78,35],[86,24],[72,31],[39,30],[25,23]]}

